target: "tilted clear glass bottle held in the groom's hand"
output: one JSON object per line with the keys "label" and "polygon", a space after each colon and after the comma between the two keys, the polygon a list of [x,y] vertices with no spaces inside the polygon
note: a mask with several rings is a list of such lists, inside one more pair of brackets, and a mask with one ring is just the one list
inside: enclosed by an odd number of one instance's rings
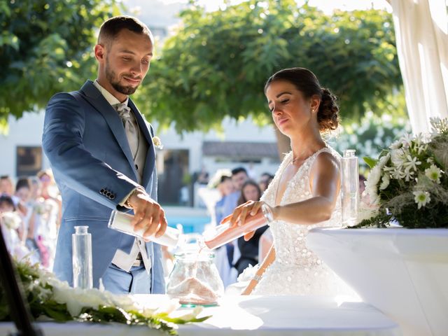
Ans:
{"label": "tilted clear glass bottle held in the groom's hand", "polygon": [[[125,214],[124,212],[113,210],[111,218],[109,218],[108,227],[113,230],[126,233],[127,235],[142,238],[143,234],[145,233],[145,229],[143,228],[134,231],[134,227],[131,225],[131,221],[133,218],[134,216],[130,214]],[[160,245],[176,247],[177,244],[179,244],[180,237],[181,230],[168,226],[165,234],[163,234],[161,237],[150,236],[149,239]]]}

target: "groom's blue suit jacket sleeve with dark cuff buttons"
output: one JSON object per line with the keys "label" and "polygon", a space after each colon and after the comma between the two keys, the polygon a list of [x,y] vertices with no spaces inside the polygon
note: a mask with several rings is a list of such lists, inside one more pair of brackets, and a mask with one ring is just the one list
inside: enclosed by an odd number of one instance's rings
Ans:
{"label": "groom's blue suit jacket sleeve with dark cuff buttons", "polygon": [[94,158],[85,148],[84,113],[71,94],[52,97],[45,111],[43,151],[64,186],[111,209],[127,210],[119,202],[139,184]]}

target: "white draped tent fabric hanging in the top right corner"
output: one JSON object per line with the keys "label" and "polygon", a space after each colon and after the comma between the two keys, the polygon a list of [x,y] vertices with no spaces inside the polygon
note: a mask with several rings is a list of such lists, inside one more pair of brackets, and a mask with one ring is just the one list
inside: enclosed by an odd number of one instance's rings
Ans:
{"label": "white draped tent fabric hanging in the top right corner", "polygon": [[448,18],[444,0],[388,0],[412,132],[448,118]]}

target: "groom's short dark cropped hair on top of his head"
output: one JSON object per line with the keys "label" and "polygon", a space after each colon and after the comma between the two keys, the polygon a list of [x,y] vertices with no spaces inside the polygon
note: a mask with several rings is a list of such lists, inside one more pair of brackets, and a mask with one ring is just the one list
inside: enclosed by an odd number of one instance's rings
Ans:
{"label": "groom's short dark cropped hair on top of his head", "polygon": [[134,31],[137,34],[146,34],[153,41],[151,30],[143,22],[132,16],[120,15],[106,20],[99,28],[98,44],[113,41],[123,29]]}

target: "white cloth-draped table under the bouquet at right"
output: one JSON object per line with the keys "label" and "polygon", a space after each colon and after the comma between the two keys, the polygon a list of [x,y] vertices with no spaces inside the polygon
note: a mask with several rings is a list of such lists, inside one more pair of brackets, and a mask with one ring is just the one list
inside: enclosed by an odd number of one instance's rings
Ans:
{"label": "white cloth-draped table under the bouquet at right", "polygon": [[316,228],[307,246],[404,335],[448,335],[448,229]]}

